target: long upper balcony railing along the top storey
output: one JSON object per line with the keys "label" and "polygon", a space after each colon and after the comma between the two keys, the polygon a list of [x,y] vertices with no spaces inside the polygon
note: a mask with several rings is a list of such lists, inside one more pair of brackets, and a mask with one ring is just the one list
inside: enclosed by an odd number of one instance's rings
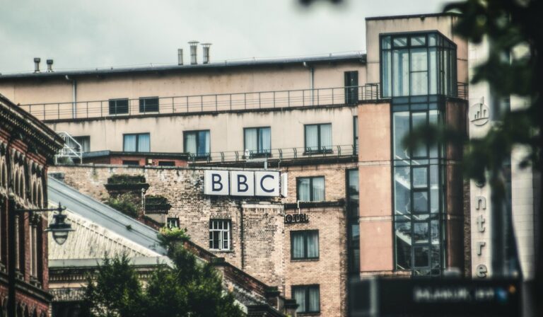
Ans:
{"label": "long upper balcony railing along the top storey", "polygon": [[[319,107],[325,105],[356,104],[359,100],[377,100],[379,98],[378,83],[368,83],[365,86],[336,88],[160,97],[158,98],[158,111],[153,112],[140,112],[139,98],[126,99],[128,105],[124,107],[114,105],[117,114],[110,114],[110,100],[78,101],[76,103],[33,103],[21,105],[21,108],[38,119],[47,121],[126,117],[133,115]],[[115,100],[118,103],[119,99]],[[119,111],[122,113],[119,113]]]}

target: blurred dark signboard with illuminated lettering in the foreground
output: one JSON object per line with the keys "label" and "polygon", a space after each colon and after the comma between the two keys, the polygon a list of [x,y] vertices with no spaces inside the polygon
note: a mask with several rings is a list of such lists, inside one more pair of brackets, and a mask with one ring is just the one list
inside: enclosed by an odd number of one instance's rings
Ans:
{"label": "blurred dark signboard with illuminated lettering in the foreground", "polygon": [[351,285],[352,316],[520,316],[516,280],[375,278]]}

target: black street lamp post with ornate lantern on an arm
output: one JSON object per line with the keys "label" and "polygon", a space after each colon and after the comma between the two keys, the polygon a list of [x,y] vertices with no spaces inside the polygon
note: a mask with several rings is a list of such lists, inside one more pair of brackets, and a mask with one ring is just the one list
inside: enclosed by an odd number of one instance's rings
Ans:
{"label": "black street lamp post with ornate lantern on an arm", "polygon": [[53,215],[53,223],[45,231],[51,231],[54,241],[62,244],[68,238],[71,225],[66,223],[66,215],[62,211],[66,207],[62,207],[59,203],[57,208],[42,208],[42,209],[15,209],[15,195],[10,192],[8,195],[8,316],[16,316],[16,215],[25,212],[59,212]]}

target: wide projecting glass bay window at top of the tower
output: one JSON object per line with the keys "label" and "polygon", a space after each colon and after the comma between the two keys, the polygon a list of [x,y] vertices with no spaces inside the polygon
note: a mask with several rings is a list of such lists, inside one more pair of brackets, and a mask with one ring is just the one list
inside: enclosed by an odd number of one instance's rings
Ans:
{"label": "wide projecting glass bay window at top of the tower", "polygon": [[381,36],[383,97],[457,95],[456,45],[440,33]]}

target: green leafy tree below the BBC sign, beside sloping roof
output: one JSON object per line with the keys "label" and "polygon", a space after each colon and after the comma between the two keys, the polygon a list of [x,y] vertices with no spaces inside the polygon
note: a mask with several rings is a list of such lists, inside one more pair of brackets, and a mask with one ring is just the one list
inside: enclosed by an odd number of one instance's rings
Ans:
{"label": "green leafy tree below the BBC sign, beside sloping roof", "polygon": [[95,282],[88,279],[85,316],[243,316],[214,267],[184,248],[189,240],[184,230],[162,229],[158,238],[168,248],[173,268],[158,267],[143,289],[126,255],[106,258]]}

